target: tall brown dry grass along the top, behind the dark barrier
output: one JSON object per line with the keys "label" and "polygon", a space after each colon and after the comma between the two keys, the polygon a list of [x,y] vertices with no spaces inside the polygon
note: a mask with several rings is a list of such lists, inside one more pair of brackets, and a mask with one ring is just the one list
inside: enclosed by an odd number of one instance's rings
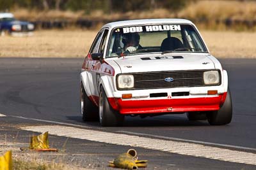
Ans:
{"label": "tall brown dry grass along the top, behind the dark barrier", "polygon": [[27,18],[28,20],[45,20],[54,18],[77,19],[80,17],[89,19],[108,19],[118,20],[118,18],[209,18],[209,20],[236,18],[255,20],[256,19],[256,1],[196,1],[190,3],[186,8],[173,12],[166,9],[150,10],[150,11],[129,11],[123,13],[112,12],[108,15],[103,11],[96,10],[86,15],[84,11],[36,11],[36,10],[22,10],[20,8],[13,8],[12,13],[17,18]]}

